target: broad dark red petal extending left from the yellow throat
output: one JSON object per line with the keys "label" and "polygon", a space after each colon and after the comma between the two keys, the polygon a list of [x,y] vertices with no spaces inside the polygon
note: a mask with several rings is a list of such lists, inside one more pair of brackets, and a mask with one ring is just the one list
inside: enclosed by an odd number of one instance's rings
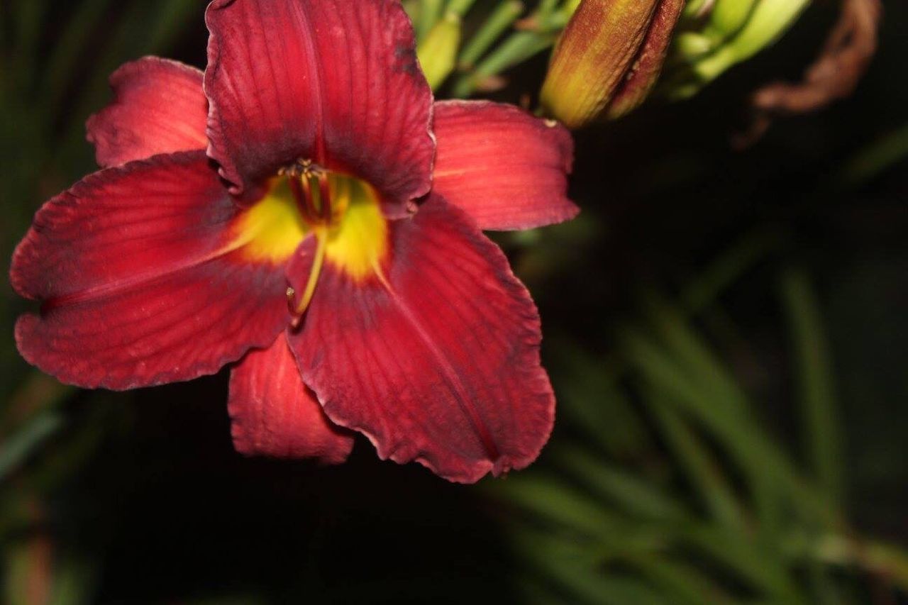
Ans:
{"label": "broad dark red petal extending left from the yellow throat", "polygon": [[64,382],[128,389],[217,372],[287,325],[282,267],[242,262],[204,152],[85,178],[35,215],[10,281],[44,302],[19,351]]}

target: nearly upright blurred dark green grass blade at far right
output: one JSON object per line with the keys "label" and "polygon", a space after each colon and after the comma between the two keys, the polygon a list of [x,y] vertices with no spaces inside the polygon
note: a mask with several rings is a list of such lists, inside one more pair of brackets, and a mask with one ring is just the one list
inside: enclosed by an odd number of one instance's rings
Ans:
{"label": "nearly upright blurred dark green grass blade at far right", "polygon": [[819,304],[807,275],[798,269],[783,273],[780,294],[795,353],[807,459],[829,497],[841,501],[844,457],[834,401],[833,368]]}

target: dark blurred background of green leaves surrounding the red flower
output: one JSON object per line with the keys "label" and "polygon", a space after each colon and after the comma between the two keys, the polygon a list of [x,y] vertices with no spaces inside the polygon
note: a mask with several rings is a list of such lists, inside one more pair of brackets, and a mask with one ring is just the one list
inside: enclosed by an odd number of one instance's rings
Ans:
{"label": "dark blurred background of green leaves surrounding the red flower", "polygon": [[[204,4],[0,5],[5,258],[94,169],[84,120],[118,64],[203,64]],[[423,36],[446,9],[407,5]],[[534,94],[572,3],[452,5],[442,94]],[[903,602],[908,11],[886,8],[855,98],[743,154],[735,111],[801,73],[834,6],[696,100],[578,134],[581,217],[496,236],[559,401],[540,461],[504,481],[449,485],[365,442],[337,469],[243,460],[223,375],[76,392],[18,357],[27,303],[4,283],[0,599]]]}

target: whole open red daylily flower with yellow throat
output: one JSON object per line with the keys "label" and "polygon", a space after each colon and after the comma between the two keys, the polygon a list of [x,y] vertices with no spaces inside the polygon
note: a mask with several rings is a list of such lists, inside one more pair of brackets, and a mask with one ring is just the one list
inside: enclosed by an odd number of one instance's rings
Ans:
{"label": "whole open red daylily flower with yellow throat", "polygon": [[555,403],[538,312],[480,230],[577,213],[567,131],[433,103],[396,1],[215,0],[206,22],[204,74],[112,77],[88,122],[104,169],[15,252],[41,302],[19,351],[89,388],[234,363],[246,454],[341,462],[360,431],[451,481],[528,465]]}

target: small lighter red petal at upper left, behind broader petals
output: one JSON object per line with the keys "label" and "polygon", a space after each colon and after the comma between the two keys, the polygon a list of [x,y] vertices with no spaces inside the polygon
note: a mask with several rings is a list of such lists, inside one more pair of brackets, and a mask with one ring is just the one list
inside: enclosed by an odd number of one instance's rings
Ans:
{"label": "small lighter red petal at upper left, behind broader petals", "polygon": [[116,70],[111,87],[114,102],[86,124],[101,166],[208,146],[208,99],[198,69],[148,56]]}

